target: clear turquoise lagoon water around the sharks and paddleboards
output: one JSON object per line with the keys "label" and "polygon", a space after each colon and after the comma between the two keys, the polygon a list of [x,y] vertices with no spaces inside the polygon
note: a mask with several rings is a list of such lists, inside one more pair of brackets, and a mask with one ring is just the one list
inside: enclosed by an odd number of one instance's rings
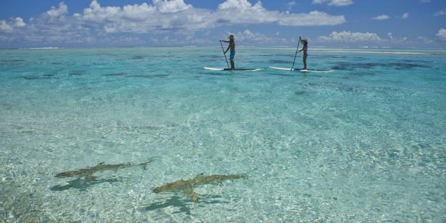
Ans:
{"label": "clear turquoise lagoon water around the sharks and paddleboards", "polygon": [[363,51],[1,50],[0,221],[446,222],[446,54]]}

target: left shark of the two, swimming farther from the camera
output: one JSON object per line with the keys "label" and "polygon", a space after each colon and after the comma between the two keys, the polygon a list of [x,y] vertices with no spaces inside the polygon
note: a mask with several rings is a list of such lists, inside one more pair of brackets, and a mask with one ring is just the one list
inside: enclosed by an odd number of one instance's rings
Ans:
{"label": "left shark of the two, swimming farther from the camera", "polygon": [[127,167],[134,167],[134,166],[141,166],[143,169],[146,169],[146,165],[149,162],[152,162],[155,160],[155,157],[151,157],[148,162],[141,162],[140,164],[132,164],[130,162],[128,163],[121,163],[121,164],[104,164],[104,162],[100,162],[99,164],[95,165],[94,167],[87,167],[82,169],[75,169],[70,171],[65,171],[59,174],[56,174],[56,177],[58,178],[65,178],[65,177],[72,177],[72,176],[84,176],[84,178],[95,181],[96,177],[93,176],[95,172],[99,171],[106,171],[106,170],[117,170]]}

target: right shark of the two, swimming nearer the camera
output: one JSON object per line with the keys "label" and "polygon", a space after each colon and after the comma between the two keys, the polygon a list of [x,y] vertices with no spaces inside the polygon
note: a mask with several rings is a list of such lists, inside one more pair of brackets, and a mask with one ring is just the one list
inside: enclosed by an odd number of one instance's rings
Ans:
{"label": "right shark of the two, swimming nearer the camera", "polygon": [[[252,171],[254,170],[255,169],[253,169]],[[177,180],[175,182],[162,185],[160,187],[155,187],[153,188],[152,191],[154,193],[183,191],[185,194],[190,196],[192,201],[198,201],[199,194],[194,192],[194,187],[206,184],[222,185],[222,182],[224,180],[236,180],[241,178],[246,179],[247,175],[252,171],[249,171],[247,174],[229,174],[229,175],[216,174],[210,176],[205,176],[204,174],[198,174],[197,176],[189,180]]]}

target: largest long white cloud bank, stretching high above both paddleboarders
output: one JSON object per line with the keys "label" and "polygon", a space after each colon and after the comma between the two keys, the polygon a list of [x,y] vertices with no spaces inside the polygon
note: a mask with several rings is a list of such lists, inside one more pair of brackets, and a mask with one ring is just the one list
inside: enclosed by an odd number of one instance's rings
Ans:
{"label": "largest long white cloud bank, stretching high above both paddleboarders", "polygon": [[104,26],[107,33],[162,33],[166,31],[190,32],[234,24],[275,23],[283,26],[322,26],[344,23],[344,15],[333,16],[313,11],[310,13],[282,13],[263,8],[247,0],[226,0],[216,11],[194,8],[183,0],[155,0],[153,6],[141,5],[101,7],[92,1],[84,13],[77,15],[86,22]]}

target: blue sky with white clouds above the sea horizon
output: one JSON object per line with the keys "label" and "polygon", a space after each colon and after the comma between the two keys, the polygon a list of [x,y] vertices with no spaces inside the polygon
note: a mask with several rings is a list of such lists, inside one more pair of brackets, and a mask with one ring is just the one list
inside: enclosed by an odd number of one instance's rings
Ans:
{"label": "blue sky with white clouds above the sea horizon", "polygon": [[2,0],[0,48],[446,48],[446,0]]}

